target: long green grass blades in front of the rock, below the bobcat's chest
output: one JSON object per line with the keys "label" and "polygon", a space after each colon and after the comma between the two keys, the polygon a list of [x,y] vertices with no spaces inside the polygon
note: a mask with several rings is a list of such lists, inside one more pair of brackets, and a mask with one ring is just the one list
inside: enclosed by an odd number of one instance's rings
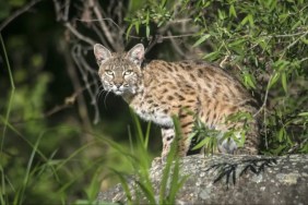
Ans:
{"label": "long green grass blades in front of the rock, below the bobcat's chest", "polygon": [[[132,197],[131,188],[128,185],[128,181],[126,180],[125,172],[118,172],[112,170],[112,172],[119,178],[122,188],[126,192],[128,203],[129,204],[140,204],[143,197],[145,197],[150,204],[175,204],[176,203],[176,194],[183,185],[185,181],[188,179],[188,176],[181,177],[180,168],[179,168],[179,157],[177,156],[177,147],[178,140],[173,142],[170,152],[165,159],[164,170],[163,170],[163,179],[161,182],[159,194],[156,195],[154,192],[153,183],[150,177],[150,155],[147,150],[147,142],[150,136],[150,126],[147,126],[146,134],[144,135],[141,131],[140,122],[137,116],[131,112],[134,126],[138,130],[137,134],[137,146],[131,149],[131,153],[125,154],[127,157],[127,161],[131,164],[133,167],[133,173],[137,186],[134,186],[134,193],[137,193],[135,197]],[[180,130],[178,119],[175,118],[174,122],[176,124],[177,136],[180,137]],[[142,157],[140,157],[142,156]]]}

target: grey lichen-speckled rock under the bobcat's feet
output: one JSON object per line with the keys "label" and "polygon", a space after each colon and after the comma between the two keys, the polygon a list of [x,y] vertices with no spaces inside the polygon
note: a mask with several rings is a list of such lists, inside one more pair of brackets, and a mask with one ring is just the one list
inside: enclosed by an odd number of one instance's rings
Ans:
{"label": "grey lichen-speckled rock under the bobcat's feet", "polygon": [[[150,170],[157,196],[164,166],[154,160]],[[181,159],[180,176],[189,177],[176,195],[177,204],[308,203],[308,155],[192,155]],[[135,180],[129,186],[135,188]],[[127,196],[118,184],[100,192],[97,200],[126,203]]]}

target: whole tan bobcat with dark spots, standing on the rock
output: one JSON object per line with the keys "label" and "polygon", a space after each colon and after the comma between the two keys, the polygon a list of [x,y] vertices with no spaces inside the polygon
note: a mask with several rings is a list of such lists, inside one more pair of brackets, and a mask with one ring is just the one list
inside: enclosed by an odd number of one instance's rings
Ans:
{"label": "whole tan bobcat with dark spots, standing on the rock", "polygon": [[[94,55],[98,75],[106,92],[121,96],[144,120],[161,125],[162,157],[166,157],[175,138],[173,116],[179,119],[181,138],[178,155],[183,157],[192,148],[191,137],[196,117],[210,129],[220,131],[217,152],[226,154],[258,154],[260,144],[257,119],[229,122],[237,112],[257,112],[257,101],[242,85],[222,69],[205,62],[163,60],[144,61],[144,47],[135,45],[128,52],[111,53],[96,44]],[[194,114],[189,113],[190,110]],[[245,132],[239,147],[232,137],[223,137],[237,129],[237,137]]]}

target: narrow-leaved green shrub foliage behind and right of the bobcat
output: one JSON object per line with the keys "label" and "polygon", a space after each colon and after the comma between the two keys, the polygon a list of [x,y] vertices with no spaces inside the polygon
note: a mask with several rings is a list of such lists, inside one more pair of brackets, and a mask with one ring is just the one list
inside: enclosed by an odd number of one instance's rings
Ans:
{"label": "narrow-leaved green shrub foliage behind and right of the bobcat", "polygon": [[[162,8],[153,8],[152,13],[164,14]],[[262,152],[308,153],[307,118],[300,114],[308,109],[307,1],[186,0],[165,9],[170,15],[159,23],[155,14],[147,19],[151,35],[162,36],[159,32],[165,29],[178,36],[191,33],[181,44],[204,49],[203,59],[236,72],[251,93],[259,94]],[[138,15],[144,16],[145,11],[146,5]],[[141,23],[137,15],[129,22]],[[182,24],[185,31],[179,22],[189,22]],[[166,27],[157,29],[161,26]],[[205,138],[201,144],[216,144],[214,138]]]}

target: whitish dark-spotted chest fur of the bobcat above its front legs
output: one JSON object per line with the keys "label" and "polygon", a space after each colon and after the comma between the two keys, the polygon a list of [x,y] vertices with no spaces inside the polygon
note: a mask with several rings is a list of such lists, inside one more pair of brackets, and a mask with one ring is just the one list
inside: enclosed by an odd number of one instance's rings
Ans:
{"label": "whitish dark-spotted chest fur of the bobcat above its front legs", "polygon": [[138,102],[131,104],[130,106],[143,120],[152,121],[162,126],[174,125],[170,114],[166,113],[166,111],[157,105],[149,105],[140,100]]}

